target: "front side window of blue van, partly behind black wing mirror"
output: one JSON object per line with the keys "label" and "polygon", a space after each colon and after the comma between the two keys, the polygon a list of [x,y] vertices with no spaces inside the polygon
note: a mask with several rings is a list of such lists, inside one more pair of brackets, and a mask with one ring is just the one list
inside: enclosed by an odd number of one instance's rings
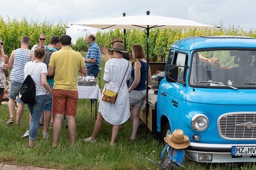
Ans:
{"label": "front side window of blue van, partly behind black wing mirror", "polygon": [[185,83],[186,81],[186,72],[187,68],[187,56],[186,54],[183,53],[175,53],[174,59],[173,59],[173,65],[177,66],[183,66],[183,67],[178,67],[178,82]]}

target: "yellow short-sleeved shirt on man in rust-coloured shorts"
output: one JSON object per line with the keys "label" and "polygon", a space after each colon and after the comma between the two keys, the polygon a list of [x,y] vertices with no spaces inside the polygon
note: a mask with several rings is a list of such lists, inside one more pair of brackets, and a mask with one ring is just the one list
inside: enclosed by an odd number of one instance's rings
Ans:
{"label": "yellow short-sleeved shirt on man in rust-coloured shorts", "polygon": [[79,52],[73,51],[71,47],[63,47],[52,53],[49,66],[55,68],[54,89],[77,90],[78,71],[85,66]]}

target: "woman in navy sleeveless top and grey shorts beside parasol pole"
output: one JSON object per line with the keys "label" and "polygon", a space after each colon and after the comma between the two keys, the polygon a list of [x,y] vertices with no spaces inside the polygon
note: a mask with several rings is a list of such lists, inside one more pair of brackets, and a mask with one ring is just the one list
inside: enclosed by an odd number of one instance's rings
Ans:
{"label": "woman in navy sleeveless top and grey shorts beside parasol pole", "polygon": [[[134,68],[131,69],[131,82],[128,89],[129,102],[131,107],[130,118],[132,122],[132,135],[130,139],[135,142],[136,133],[139,126],[139,111],[142,102],[146,97],[146,77],[147,77],[147,61],[145,53],[141,45],[134,44],[131,48],[132,57],[136,60]],[[149,68],[149,84],[151,83],[151,72]]]}

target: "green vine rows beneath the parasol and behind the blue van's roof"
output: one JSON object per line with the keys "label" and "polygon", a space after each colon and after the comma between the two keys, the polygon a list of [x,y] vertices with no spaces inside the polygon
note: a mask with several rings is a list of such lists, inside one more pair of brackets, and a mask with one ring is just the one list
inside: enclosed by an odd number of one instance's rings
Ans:
{"label": "green vine rows beneath the parasol and behind the blue van's roof", "polygon": [[[221,28],[151,29],[149,33],[149,59],[151,61],[166,61],[170,46],[175,41],[184,37],[201,35],[235,35],[256,37],[256,29],[244,31],[239,26],[235,27],[234,25],[229,25],[228,27],[224,27],[222,21],[220,26]],[[110,31],[98,31],[96,33],[96,42],[99,46],[105,45],[110,48],[111,45],[108,43],[115,36],[120,36],[124,41],[123,30],[116,29]],[[141,44],[146,54],[147,37],[145,29],[126,30],[126,49],[130,54],[133,44]],[[83,50],[84,49],[79,49],[79,51]]]}

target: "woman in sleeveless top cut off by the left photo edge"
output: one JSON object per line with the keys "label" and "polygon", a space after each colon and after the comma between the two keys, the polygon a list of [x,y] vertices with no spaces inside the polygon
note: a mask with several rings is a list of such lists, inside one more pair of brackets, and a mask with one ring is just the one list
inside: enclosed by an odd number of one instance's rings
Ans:
{"label": "woman in sleeveless top cut off by the left photo edge", "polygon": [[[0,38],[0,101],[2,102],[4,88],[6,88],[6,77],[9,75],[9,58],[3,54],[3,41]],[[0,103],[1,105],[1,103]]]}

